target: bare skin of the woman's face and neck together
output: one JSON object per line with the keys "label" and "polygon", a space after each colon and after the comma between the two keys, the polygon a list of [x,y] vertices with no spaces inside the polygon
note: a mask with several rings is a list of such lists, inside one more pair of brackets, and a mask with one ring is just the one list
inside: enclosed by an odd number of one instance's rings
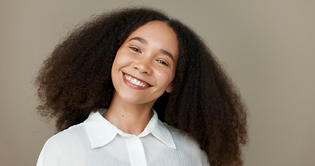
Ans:
{"label": "bare skin of the woman's face and neck together", "polygon": [[172,91],[178,43],[174,30],[162,21],[148,22],[125,40],[111,68],[115,91],[104,118],[136,136],[145,129],[154,102]]}

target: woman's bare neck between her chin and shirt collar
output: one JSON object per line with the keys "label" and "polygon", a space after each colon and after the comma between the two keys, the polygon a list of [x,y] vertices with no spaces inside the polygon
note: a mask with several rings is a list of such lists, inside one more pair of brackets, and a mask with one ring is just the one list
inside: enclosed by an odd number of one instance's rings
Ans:
{"label": "woman's bare neck between her chin and shirt collar", "polygon": [[113,98],[103,117],[125,133],[138,136],[150,122],[152,106],[153,103],[129,104]]}

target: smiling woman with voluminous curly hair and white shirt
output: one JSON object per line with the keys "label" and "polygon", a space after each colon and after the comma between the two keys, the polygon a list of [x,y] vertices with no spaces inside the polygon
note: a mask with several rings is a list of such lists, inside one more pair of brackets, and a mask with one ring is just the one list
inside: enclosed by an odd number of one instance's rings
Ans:
{"label": "smiling woman with voluminous curly hair and white shirt", "polygon": [[55,48],[35,84],[39,112],[61,131],[39,166],[242,165],[237,90],[201,39],[157,10],[87,22]]}

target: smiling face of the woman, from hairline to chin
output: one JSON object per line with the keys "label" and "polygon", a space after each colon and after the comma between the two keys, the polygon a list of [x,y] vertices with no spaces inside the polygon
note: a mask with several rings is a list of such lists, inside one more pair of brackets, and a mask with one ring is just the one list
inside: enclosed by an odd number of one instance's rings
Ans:
{"label": "smiling face of the woman, from hairline to chin", "polygon": [[161,21],[136,29],[117,51],[111,68],[115,100],[154,104],[172,91],[179,54],[177,35]]}

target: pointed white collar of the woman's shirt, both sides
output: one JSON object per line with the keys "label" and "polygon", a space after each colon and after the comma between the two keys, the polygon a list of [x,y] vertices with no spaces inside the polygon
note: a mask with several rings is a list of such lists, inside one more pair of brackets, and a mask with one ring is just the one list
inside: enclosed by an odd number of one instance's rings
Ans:
{"label": "pointed white collar of the woman's shirt, both sides", "polygon": [[[92,112],[89,118],[85,120],[84,127],[87,131],[87,136],[91,142],[91,148],[97,148],[107,145],[111,140],[114,140],[117,133],[122,136],[132,136],[129,133],[124,133],[118,129],[114,124],[111,124],[108,120],[102,117],[100,112],[105,112],[106,110],[100,109],[100,111]],[[149,133],[152,133],[154,137],[161,140],[165,145],[172,149],[176,149],[172,135],[165,124],[159,120],[156,111],[152,109],[153,116],[150,122],[145,127],[144,131],[140,133],[137,137],[145,137]]]}

